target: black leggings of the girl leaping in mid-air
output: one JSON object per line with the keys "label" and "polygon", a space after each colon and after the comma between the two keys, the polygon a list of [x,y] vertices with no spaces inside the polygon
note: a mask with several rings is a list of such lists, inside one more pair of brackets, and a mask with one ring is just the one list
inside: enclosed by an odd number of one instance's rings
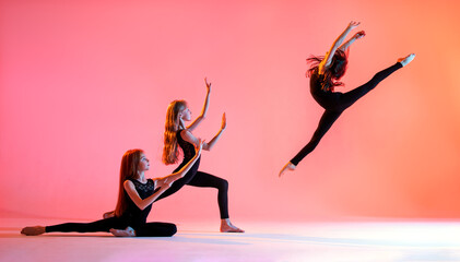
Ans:
{"label": "black leggings of the girl leaping in mid-air", "polygon": [[330,93],[328,96],[315,97],[315,99],[326,109],[319,120],[318,128],[316,129],[310,142],[298,152],[291,163],[295,166],[304,159],[315,147],[318,145],[322,136],[332,127],[335,120],[342,115],[342,112],[352,106],[356,100],[366,95],[369,91],[374,90],[378,83],[389,76],[391,73],[402,68],[402,64],[397,62],[396,64],[378,72],[374,78],[365,83],[364,85],[356,87],[347,93]]}

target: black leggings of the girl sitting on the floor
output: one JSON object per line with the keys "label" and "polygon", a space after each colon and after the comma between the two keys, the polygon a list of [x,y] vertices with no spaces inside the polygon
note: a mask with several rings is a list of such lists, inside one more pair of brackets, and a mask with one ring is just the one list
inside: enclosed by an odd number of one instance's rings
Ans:
{"label": "black leggings of the girl sitting on the floor", "polygon": [[143,223],[137,226],[130,225],[126,219],[119,217],[110,217],[92,223],[64,223],[54,226],[47,226],[46,231],[61,231],[61,233],[95,233],[95,231],[109,231],[114,229],[126,229],[131,226],[137,237],[170,237],[176,234],[176,225],[170,223]]}

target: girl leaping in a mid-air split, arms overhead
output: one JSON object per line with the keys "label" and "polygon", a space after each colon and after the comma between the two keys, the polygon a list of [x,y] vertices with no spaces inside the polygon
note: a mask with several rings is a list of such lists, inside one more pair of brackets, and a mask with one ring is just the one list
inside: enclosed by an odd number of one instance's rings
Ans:
{"label": "girl leaping in a mid-air split, arms overhead", "polygon": [[[346,35],[356,26],[358,22],[351,22],[345,31],[335,39],[332,47],[326,52],[325,57],[310,57],[307,61],[311,64],[307,71],[307,76],[310,78],[310,93],[315,100],[325,108],[318,128],[316,129],[311,140],[304,148],[298,152],[294,158],[287,162],[281,169],[279,176],[281,177],[286,170],[294,170],[298,163],[304,159],[318,145],[321,138],[328,132],[332,123],[340,117],[340,115],[356,100],[366,95],[369,91],[377,86],[382,80],[389,76],[398,69],[410,63],[415,55],[411,53],[404,58],[398,59],[398,62],[380,72],[365,83],[346,93],[334,92],[335,86],[343,85],[339,80],[345,74],[347,64],[347,49],[356,39],[365,36],[364,31],[356,33],[351,39],[345,40]],[[343,43],[343,44],[342,44]]]}

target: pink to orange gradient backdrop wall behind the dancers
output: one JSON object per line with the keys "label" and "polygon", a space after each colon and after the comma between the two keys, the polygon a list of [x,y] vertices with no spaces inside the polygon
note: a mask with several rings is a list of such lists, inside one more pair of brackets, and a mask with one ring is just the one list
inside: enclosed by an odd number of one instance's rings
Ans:
{"label": "pink to orange gradient backdrop wall behind the dancers", "polygon": [[[0,212],[96,219],[115,207],[122,154],[161,163],[166,107],[188,100],[227,130],[201,170],[229,181],[240,219],[460,217],[460,3],[456,1],[0,2]],[[322,109],[305,59],[351,21],[349,91],[415,52],[335,122],[295,172]],[[216,191],[186,187],[151,221],[219,221]]]}

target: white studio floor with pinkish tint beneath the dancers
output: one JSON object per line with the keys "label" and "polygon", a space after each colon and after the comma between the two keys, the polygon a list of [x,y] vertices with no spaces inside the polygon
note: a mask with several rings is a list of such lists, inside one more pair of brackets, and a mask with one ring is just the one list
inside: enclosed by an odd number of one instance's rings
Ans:
{"label": "white studio floor with pinkish tint beneath the dancers", "polygon": [[105,233],[26,237],[20,235],[21,227],[39,225],[37,219],[0,223],[2,262],[460,261],[459,222],[238,222],[245,234],[221,234],[215,223],[212,228],[185,223],[170,238],[116,238]]}

